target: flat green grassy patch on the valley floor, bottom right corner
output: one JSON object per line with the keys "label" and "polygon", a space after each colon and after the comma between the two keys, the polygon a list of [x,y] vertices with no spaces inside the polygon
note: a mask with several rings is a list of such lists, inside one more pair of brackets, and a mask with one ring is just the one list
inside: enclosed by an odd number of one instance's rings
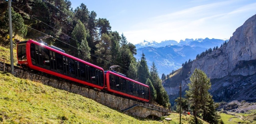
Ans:
{"label": "flat green grassy patch on the valley floor, bottom right corner", "polygon": [[228,115],[225,113],[220,113],[221,119],[225,124],[237,124],[240,123],[250,123],[250,124],[256,124],[256,121],[253,119],[256,118],[256,110],[250,110],[246,113],[232,113],[233,115]]}

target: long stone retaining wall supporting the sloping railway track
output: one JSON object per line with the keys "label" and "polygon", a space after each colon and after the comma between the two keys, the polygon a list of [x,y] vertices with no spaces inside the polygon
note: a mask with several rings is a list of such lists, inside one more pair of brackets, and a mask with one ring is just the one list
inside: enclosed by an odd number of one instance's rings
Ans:
{"label": "long stone retaining wall supporting the sloping railway track", "polygon": [[[7,66],[5,68],[5,70],[10,72],[10,67]],[[3,71],[3,64],[1,64],[1,63],[0,63],[0,71]],[[48,78],[48,77],[45,77],[42,75],[23,71],[22,69],[15,68],[14,75],[16,77],[19,77],[22,79],[29,79],[31,81],[41,82],[42,84],[49,85],[49,86],[52,86],[57,89],[62,89],[62,90],[66,90],[68,92],[82,95],[84,97],[93,99],[93,100],[101,103],[102,105],[105,105],[105,106],[108,106],[110,108],[117,109],[117,110],[123,110],[123,109],[129,108],[130,106],[133,106],[135,104],[141,105],[141,106],[136,106],[133,109],[126,111],[126,112],[132,114],[133,116],[138,116],[141,118],[146,118],[149,115],[162,117],[165,114],[165,112],[161,112],[161,111],[167,110],[167,109],[163,109],[161,107],[148,105],[148,104],[137,102],[137,101],[134,101],[131,99],[126,99],[126,98],[122,98],[119,96],[111,95],[111,94],[108,94],[105,92],[99,92],[94,89],[88,89],[86,87],[74,85],[69,82],[58,81],[58,80],[51,79],[51,78]],[[146,107],[161,110],[161,111],[156,111],[156,110],[149,109],[149,108],[142,107],[142,106],[146,106]]]}

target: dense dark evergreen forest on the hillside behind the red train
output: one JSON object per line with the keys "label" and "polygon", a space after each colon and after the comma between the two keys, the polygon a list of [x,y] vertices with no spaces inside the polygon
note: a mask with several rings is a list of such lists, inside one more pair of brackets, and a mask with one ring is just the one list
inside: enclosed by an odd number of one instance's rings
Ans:
{"label": "dense dark evergreen forest on the hillside behind the red train", "polygon": [[[8,17],[8,3],[1,1],[0,45],[5,47],[9,46]],[[155,63],[149,68],[144,54],[136,60],[136,47],[126,40],[125,34],[112,31],[107,18],[97,18],[97,13],[83,3],[72,8],[69,0],[12,0],[12,30],[14,46],[23,40],[37,41],[38,37],[51,35],[52,38],[42,40],[69,55],[104,70],[119,65],[115,71],[150,86],[151,103],[170,106]]]}

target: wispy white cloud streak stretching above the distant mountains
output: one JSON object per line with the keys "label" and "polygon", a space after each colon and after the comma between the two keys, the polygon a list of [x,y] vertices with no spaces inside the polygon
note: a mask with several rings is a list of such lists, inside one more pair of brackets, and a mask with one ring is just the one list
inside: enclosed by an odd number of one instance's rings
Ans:
{"label": "wispy white cloud streak stretching above the distant mountains", "polygon": [[[239,1],[223,1],[206,5],[198,5],[177,12],[147,18],[132,25],[124,34],[129,42],[138,43],[144,39],[160,42],[185,38],[229,38],[237,25],[256,12],[256,3],[237,7],[232,6]],[[245,15],[241,17],[240,15]],[[241,18],[240,18],[241,17]],[[233,19],[240,18],[241,24]],[[236,26],[236,27],[234,27]]]}

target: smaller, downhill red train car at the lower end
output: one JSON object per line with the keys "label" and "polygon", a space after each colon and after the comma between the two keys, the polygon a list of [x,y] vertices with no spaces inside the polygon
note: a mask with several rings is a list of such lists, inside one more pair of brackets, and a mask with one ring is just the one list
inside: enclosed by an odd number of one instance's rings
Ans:
{"label": "smaller, downhill red train car at the lower end", "polygon": [[112,71],[105,71],[105,90],[116,94],[149,102],[149,86]]}

